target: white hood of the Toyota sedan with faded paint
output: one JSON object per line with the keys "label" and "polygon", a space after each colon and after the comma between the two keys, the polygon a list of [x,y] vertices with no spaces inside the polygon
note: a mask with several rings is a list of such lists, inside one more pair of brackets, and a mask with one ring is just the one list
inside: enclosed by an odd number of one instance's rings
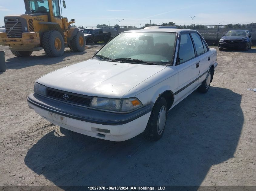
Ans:
{"label": "white hood of the Toyota sedan with faded paint", "polygon": [[165,68],[161,65],[90,59],[51,72],[37,82],[49,88],[77,94],[121,98],[136,85]]}

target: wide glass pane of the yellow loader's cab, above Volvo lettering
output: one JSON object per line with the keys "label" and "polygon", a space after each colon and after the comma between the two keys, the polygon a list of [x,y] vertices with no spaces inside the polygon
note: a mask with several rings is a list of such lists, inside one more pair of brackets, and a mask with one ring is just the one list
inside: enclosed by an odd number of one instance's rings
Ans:
{"label": "wide glass pane of the yellow loader's cab, above Volvo lettering", "polygon": [[[48,13],[48,0],[25,0],[26,14],[30,13]],[[29,10],[28,10],[29,7]]]}

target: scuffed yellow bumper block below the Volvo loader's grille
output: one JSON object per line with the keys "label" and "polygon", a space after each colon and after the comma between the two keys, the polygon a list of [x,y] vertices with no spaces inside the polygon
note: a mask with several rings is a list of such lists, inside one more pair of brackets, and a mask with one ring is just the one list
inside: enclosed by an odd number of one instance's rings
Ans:
{"label": "scuffed yellow bumper block below the Volvo loader's grille", "polygon": [[22,33],[22,38],[8,38],[6,33],[0,33],[0,45],[9,46],[20,51],[35,51],[40,46],[38,32]]}

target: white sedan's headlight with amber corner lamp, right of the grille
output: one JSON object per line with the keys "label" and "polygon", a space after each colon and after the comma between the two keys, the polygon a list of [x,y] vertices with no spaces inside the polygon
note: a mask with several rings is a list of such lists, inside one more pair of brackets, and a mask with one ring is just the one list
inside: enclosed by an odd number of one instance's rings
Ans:
{"label": "white sedan's headlight with amber corner lamp, right of the grille", "polygon": [[104,97],[93,97],[91,99],[91,107],[102,109],[102,110],[111,110],[111,111],[131,111],[135,110],[142,106],[142,103],[137,98],[129,99],[111,99]]}

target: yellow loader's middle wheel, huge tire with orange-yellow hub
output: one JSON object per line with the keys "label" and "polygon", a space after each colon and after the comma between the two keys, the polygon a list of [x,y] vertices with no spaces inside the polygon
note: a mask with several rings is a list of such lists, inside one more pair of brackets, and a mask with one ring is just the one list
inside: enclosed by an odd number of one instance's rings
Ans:
{"label": "yellow loader's middle wheel, huge tire with orange-yellow hub", "polygon": [[64,54],[64,39],[57,30],[48,30],[43,35],[43,48],[50,57],[58,57]]}

